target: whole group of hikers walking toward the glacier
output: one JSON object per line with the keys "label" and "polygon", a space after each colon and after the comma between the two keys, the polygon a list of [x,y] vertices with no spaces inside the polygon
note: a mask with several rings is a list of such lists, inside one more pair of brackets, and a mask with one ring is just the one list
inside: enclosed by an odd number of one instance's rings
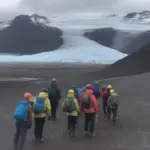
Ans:
{"label": "whole group of hikers walking toward the glacier", "polygon": [[[62,103],[62,110],[67,115],[68,135],[75,137],[76,124],[82,113],[85,116],[85,136],[94,136],[95,119],[100,115],[100,98],[102,98],[104,118],[116,122],[118,109],[117,93],[111,85],[104,86],[101,90],[98,82],[87,84],[78,88],[75,84],[70,87],[67,96]],[[25,93],[23,100],[19,101],[15,111],[14,120],[16,133],[14,138],[14,150],[22,150],[27,131],[34,120],[34,137],[36,142],[43,142],[43,128],[46,119],[57,119],[58,102],[61,99],[61,91],[57,86],[56,78],[51,80],[51,85],[44,88],[37,96]]]}

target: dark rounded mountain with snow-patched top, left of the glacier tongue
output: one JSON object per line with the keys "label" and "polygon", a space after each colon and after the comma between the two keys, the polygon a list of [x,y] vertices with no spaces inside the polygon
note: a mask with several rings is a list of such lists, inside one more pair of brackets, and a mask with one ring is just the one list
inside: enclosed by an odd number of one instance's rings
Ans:
{"label": "dark rounded mountain with snow-patched top, left of the glacier tongue", "polygon": [[0,53],[35,54],[59,48],[62,31],[36,22],[38,17],[17,16],[9,27],[0,30]]}

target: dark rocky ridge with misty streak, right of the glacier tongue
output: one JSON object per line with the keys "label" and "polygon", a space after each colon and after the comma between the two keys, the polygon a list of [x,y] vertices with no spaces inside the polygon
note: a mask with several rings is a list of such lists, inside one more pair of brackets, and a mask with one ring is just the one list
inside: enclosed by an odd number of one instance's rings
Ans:
{"label": "dark rocky ridge with misty streak, right of the glacier tongue", "polygon": [[113,28],[95,29],[84,36],[104,46],[131,54],[150,42],[150,31],[130,33]]}

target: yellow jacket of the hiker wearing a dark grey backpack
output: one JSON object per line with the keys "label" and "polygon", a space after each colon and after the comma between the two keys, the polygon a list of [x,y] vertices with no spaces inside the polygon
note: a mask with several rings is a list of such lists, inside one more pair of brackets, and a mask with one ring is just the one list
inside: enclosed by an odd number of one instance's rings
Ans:
{"label": "yellow jacket of the hiker wearing a dark grey backpack", "polygon": [[[74,102],[74,106],[75,106],[75,110],[72,112],[72,113],[66,113],[67,115],[70,115],[70,116],[78,116],[78,113],[80,111],[80,107],[79,107],[79,104],[78,104],[78,101],[77,99],[74,97],[74,94],[68,94],[67,96],[68,98],[72,98],[73,102]],[[65,107],[65,101],[62,103],[62,108]]]}

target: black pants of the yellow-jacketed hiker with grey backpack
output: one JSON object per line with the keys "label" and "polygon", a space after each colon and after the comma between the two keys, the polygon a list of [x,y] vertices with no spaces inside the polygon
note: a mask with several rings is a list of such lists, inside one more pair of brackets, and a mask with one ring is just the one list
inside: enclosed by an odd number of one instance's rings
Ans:
{"label": "black pants of the yellow-jacketed hiker with grey backpack", "polygon": [[75,132],[77,116],[68,116],[68,131]]}

